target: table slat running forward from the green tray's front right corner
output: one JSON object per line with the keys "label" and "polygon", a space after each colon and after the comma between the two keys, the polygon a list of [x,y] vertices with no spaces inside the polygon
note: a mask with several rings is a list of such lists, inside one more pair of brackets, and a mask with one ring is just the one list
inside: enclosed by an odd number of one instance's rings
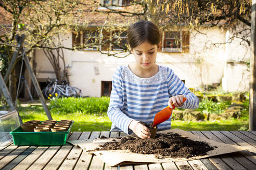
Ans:
{"label": "table slat running forward from the green tray's front right corner", "polygon": [[[70,136],[72,136],[71,133]],[[69,136],[69,137],[70,137]],[[46,164],[54,157],[61,146],[50,146],[28,169],[43,169]]]}

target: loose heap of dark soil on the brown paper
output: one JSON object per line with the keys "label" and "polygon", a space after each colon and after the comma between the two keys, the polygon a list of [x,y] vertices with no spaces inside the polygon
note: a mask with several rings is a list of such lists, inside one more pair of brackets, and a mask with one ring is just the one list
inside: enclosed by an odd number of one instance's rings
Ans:
{"label": "loose heap of dark soil on the brown paper", "polygon": [[140,139],[137,136],[124,136],[119,141],[114,140],[100,145],[96,150],[126,150],[134,153],[156,154],[158,159],[164,157],[190,158],[205,155],[213,147],[203,141],[195,141],[179,134],[156,134],[155,139]]}

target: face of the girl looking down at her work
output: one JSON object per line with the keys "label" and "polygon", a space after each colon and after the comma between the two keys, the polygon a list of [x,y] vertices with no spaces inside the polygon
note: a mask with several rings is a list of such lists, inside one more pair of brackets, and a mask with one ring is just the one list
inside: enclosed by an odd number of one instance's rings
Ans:
{"label": "face of the girl looking down at her work", "polygon": [[147,41],[131,49],[132,54],[135,56],[136,64],[143,69],[148,69],[155,65],[157,51],[158,46],[151,45]]}

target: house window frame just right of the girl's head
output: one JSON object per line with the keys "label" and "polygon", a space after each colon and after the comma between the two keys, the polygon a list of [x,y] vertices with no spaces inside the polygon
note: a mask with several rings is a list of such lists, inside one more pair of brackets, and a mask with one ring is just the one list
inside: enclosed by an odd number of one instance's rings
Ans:
{"label": "house window frame just right of the girl's head", "polygon": [[[165,35],[167,32],[180,32],[180,40],[178,40],[180,42],[180,48],[164,48],[165,47],[165,40],[176,40],[176,38],[166,38]],[[180,31],[176,31],[176,30],[167,30],[163,32],[163,40],[162,40],[162,52],[182,52],[182,30]]]}

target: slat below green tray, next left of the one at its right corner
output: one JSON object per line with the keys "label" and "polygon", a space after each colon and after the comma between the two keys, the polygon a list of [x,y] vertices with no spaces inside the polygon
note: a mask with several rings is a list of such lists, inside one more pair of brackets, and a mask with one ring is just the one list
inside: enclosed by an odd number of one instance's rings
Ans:
{"label": "slat below green tray, next left of the one at its right corner", "polygon": [[41,155],[49,148],[49,146],[39,146],[33,150],[28,157],[23,159],[15,168],[12,170],[27,169],[35,160],[37,160]]}

